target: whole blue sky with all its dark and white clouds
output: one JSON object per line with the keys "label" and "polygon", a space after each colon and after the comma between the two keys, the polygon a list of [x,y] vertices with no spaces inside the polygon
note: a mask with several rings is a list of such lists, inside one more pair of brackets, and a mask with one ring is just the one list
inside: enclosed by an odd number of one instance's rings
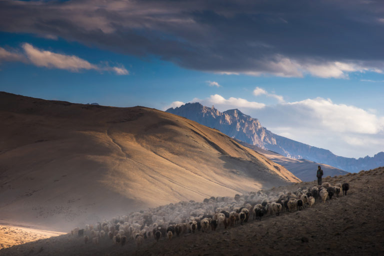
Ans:
{"label": "whole blue sky with all its dark and white clouds", "polygon": [[238,108],[346,157],[384,151],[380,0],[0,0],[0,91]]}

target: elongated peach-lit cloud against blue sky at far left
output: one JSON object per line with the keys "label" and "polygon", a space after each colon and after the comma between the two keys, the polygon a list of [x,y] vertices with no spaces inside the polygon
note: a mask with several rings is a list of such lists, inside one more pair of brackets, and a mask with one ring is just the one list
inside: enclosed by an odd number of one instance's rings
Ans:
{"label": "elongated peach-lit cloud against blue sky at far left", "polygon": [[0,62],[21,61],[25,63],[32,63],[36,66],[66,69],[72,72],[93,69],[99,72],[110,71],[117,75],[129,74],[129,71],[126,70],[123,65],[109,66],[107,62],[105,62],[103,65],[96,65],[89,63],[87,60],[75,55],[65,55],[48,50],[38,49],[30,43],[23,43],[21,47],[23,49],[23,53],[17,51],[11,52],[0,47]]}

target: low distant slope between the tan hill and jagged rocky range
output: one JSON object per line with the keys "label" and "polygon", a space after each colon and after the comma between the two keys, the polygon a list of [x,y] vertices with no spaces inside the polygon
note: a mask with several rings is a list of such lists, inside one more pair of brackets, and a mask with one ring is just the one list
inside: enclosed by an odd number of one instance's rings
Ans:
{"label": "low distant slope between the tan hill and jagged rocky range", "polygon": [[318,165],[320,165],[321,169],[324,171],[323,177],[326,177],[326,176],[333,177],[338,175],[345,175],[348,173],[347,171],[335,168],[328,164],[317,163],[317,162],[306,160],[306,159],[293,159],[293,158],[285,157],[281,154],[278,154],[270,150],[262,149],[261,147],[258,147],[255,145],[247,144],[240,140],[237,140],[237,142],[239,142],[243,146],[252,148],[253,150],[255,150],[260,154],[265,155],[268,159],[272,160],[273,162],[277,162],[278,164],[281,164],[302,181],[312,181],[316,179],[316,170]]}

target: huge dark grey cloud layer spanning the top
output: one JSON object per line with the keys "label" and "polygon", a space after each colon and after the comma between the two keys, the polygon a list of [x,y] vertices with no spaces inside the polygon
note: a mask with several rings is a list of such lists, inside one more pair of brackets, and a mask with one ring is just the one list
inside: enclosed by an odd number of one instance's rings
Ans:
{"label": "huge dark grey cloud layer spanning the top", "polygon": [[1,1],[0,29],[206,71],[345,77],[384,69],[380,1]]}

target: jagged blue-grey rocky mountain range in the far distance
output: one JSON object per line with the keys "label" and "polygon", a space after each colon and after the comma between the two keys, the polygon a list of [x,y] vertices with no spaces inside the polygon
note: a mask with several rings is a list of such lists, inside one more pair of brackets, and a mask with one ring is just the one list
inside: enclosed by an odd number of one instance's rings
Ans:
{"label": "jagged blue-grey rocky mountain range in the far distance", "polygon": [[304,158],[350,172],[373,169],[384,165],[384,152],[379,152],[373,157],[365,156],[358,159],[337,156],[327,149],[310,146],[274,134],[263,127],[259,120],[243,114],[238,109],[220,112],[213,106],[207,107],[196,102],[169,108],[166,112],[184,116],[208,127],[218,129],[230,137],[294,159]]}

